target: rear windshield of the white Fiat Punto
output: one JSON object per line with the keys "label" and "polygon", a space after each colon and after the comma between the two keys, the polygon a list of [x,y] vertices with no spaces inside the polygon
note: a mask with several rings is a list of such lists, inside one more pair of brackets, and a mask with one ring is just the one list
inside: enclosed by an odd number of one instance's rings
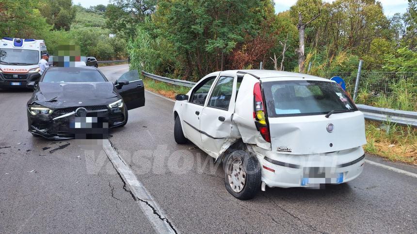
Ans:
{"label": "rear windshield of the white Fiat Punto", "polygon": [[323,115],[332,110],[357,110],[334,82],[275,81],[262,83],[269,117]]}

